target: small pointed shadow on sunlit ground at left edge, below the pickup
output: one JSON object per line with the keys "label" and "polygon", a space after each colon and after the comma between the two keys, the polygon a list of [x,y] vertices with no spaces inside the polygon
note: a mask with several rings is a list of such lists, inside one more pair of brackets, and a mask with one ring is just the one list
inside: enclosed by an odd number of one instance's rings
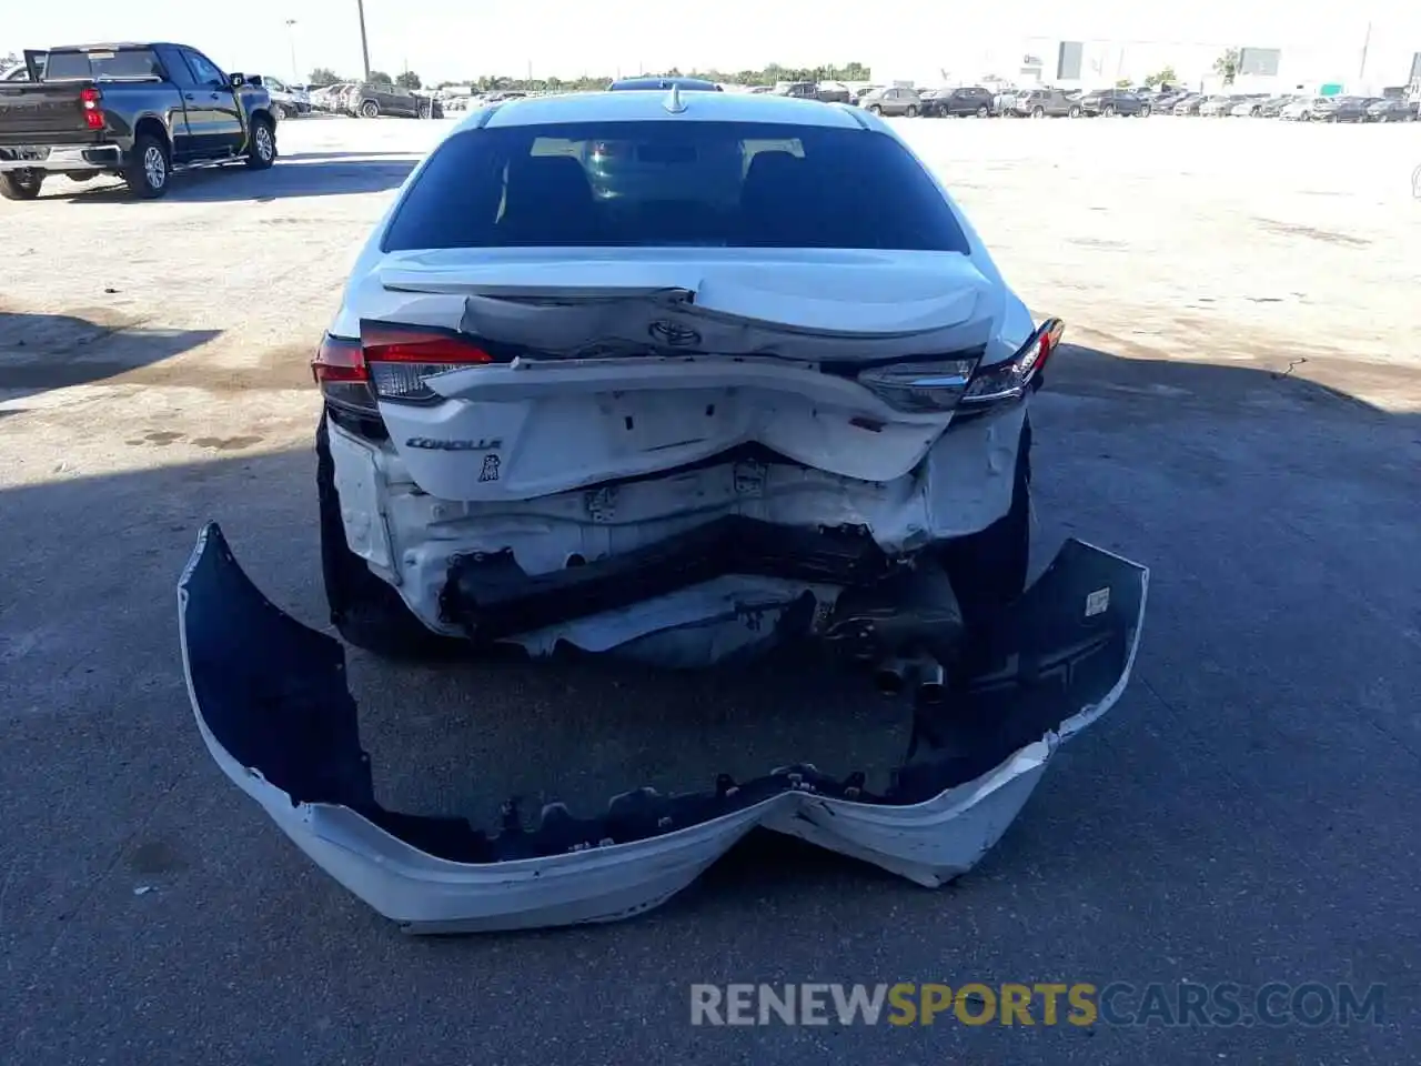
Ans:
{"label": "small pointed shadow on sunlit ground at left edge, below the pickup", "polygon": [[142,370],[220,337],[220,330],[158,330],[114,318],[0,311],[0,401],[87,385]]}

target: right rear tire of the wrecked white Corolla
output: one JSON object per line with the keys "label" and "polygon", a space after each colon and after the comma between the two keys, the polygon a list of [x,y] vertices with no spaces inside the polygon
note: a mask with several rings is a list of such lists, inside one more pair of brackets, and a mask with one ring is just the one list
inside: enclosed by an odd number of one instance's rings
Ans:
{"label": "right rear tire of the wrecked white Corolla", "polygon": [[949,540],[938,551],[969,632],[1026,590],[1030,542],[1032,422],[1027,418],[1016,451],[1010,510],[982,532]]}

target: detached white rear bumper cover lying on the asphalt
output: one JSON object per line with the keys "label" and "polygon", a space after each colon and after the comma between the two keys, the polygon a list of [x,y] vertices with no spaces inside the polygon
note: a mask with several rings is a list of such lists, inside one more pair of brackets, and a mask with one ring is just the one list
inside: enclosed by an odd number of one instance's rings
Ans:
{"label": "detached white rear bumper cover lying on the asphalt", "polygon": [[882,795],[813,766],[696,795],[615,797],[594,819],[561,806],[534,831],[385,810],[374,796],[342,645],[274,607],[209,523],[178,586],[188,691],[223,772],[327,873],[412,932],[612,921],[686,887],[760,826],[918,884],[971,870],[1000,839],[1057,746],[1124,691],[1148,571],[1067,542],[978,648],[968,691],[919,709]]}

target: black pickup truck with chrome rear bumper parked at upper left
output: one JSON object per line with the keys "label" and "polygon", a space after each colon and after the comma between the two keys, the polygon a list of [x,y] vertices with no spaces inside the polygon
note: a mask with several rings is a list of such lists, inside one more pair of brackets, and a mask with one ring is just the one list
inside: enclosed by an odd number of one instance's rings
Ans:
{"label": "black pickup truck with chrome rear bumper parked at upper left", "polygon": [[[43,57],[43,61],[41,61]],[[48,175],[121,176],[138,196],[171,175],[276,162],[271,98],[186,44],[90,44],[26,53],[0,82],[0,196],[33,200]]]}

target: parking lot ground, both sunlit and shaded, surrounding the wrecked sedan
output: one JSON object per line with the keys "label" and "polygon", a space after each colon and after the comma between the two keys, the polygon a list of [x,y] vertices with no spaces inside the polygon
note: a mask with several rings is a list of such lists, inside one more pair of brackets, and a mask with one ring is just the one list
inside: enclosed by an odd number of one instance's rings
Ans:
{"label": "parking lot ground, both sunlit and shaded, surrounding the wrecked sedan", "polygon": [[[750,841],[631,922],[414,940],[212,765],[173,588],[216,517],[323,624],[306,364],[450,125],[298,121],[266,173],[0,203],[0,1060],[1417,1057],[1421,126],[905,122],[1009,280],[1069,323],[1036,408],[1039,537],[1152,567],[1125,698],[944,891]],[[351,665],[377,786],[480,817],[509,789],[834,766],[888,722],[773,674],[689,692]],[[1385,1012],[692,1028],[689,984],[736,981],[1380,982]]]}

